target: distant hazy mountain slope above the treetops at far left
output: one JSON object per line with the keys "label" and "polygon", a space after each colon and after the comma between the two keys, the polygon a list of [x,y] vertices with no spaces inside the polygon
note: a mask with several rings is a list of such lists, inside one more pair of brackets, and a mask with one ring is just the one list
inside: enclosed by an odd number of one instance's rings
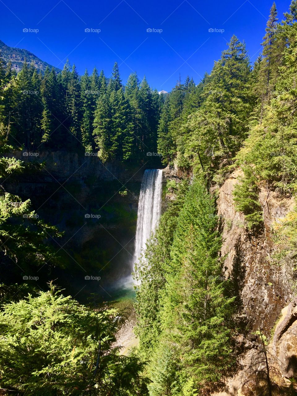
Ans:
{"label": "distant hazy mountain slope above the treetops at far left", "polygon": [[61,71],[61,69],[42,61],[42,59],[38,58],[36,55],[34,55],[34,53],[28,51],[27,49],[10,47],[2,40],[0,40],[0,58],[2,58],[6,64],[11,62],[11,66],[16,70],[16,72],[21,70],[25,59],[27,63],[33,63],[36,69],[40,70],[42,73],[47,67],[49,67],[49,69],[53,67],[56,72]]}

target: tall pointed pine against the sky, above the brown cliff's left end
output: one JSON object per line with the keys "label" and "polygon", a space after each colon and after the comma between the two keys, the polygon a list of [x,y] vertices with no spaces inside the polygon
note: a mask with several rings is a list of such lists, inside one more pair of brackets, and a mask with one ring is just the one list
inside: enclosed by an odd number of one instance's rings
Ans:
{"label": "tall pointed pine against the sky, above the brown cliff's left end", "polygon": [[221,60],[215,62],[204,85],[204,102],[189,118],[191,131],[186,153],[204,171],[223,159],[230,163],[247,133],[246,120],[254,103],[249,89],[250,65],[244,43],[232,36]]}

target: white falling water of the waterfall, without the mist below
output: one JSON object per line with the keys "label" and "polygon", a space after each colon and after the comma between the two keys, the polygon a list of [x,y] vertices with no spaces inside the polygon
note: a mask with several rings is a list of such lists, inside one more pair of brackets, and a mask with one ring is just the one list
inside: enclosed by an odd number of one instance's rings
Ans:
{"label": "white falling water of the waterfall, without the mist below", "polygon": [[138,211],[135,252],[133,263],[137,263],[145,243],[150,237],[161,214],[162,169],[146,169],[141,182]]}

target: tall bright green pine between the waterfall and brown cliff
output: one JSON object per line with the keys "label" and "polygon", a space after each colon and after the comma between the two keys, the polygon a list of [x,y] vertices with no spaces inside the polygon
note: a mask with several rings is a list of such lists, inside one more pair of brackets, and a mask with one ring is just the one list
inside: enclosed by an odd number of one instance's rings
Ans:
{"label": "tall bright green pine between the waterfall and brown cliff", "polygon": [[[181,394],[207,394],[235,361],[234,298],[227,297],[220,247],[214,201],[204,183],[196,179],[185,197],[174,234],[171,273],[166,276],[160,303],[162,342],[153,362],[155,366],[166,354],[164,345],[174,345]],[[162,372],[162,367],[155,367],[158,369]],[[173,378],[172,386],[176,380]]]}

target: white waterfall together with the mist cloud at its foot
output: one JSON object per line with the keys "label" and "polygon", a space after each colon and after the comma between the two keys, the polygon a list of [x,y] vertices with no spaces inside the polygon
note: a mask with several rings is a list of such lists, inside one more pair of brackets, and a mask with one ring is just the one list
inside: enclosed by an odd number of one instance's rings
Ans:
{"label": "white waterfall together with the mist cloud at its foot", "polygon": [[[131,259],[131,273],[135,270],[135,263],[139,262],[141,254],[146,247],[147,239],[154,232],[161,215],[162,207],[162,169],[146,169],[141,182],[137,227],[135,236],[135,250]],[[129,297],[133,291],[134,281],[132,274],[120,279],[115,292],[121,297]]]}

